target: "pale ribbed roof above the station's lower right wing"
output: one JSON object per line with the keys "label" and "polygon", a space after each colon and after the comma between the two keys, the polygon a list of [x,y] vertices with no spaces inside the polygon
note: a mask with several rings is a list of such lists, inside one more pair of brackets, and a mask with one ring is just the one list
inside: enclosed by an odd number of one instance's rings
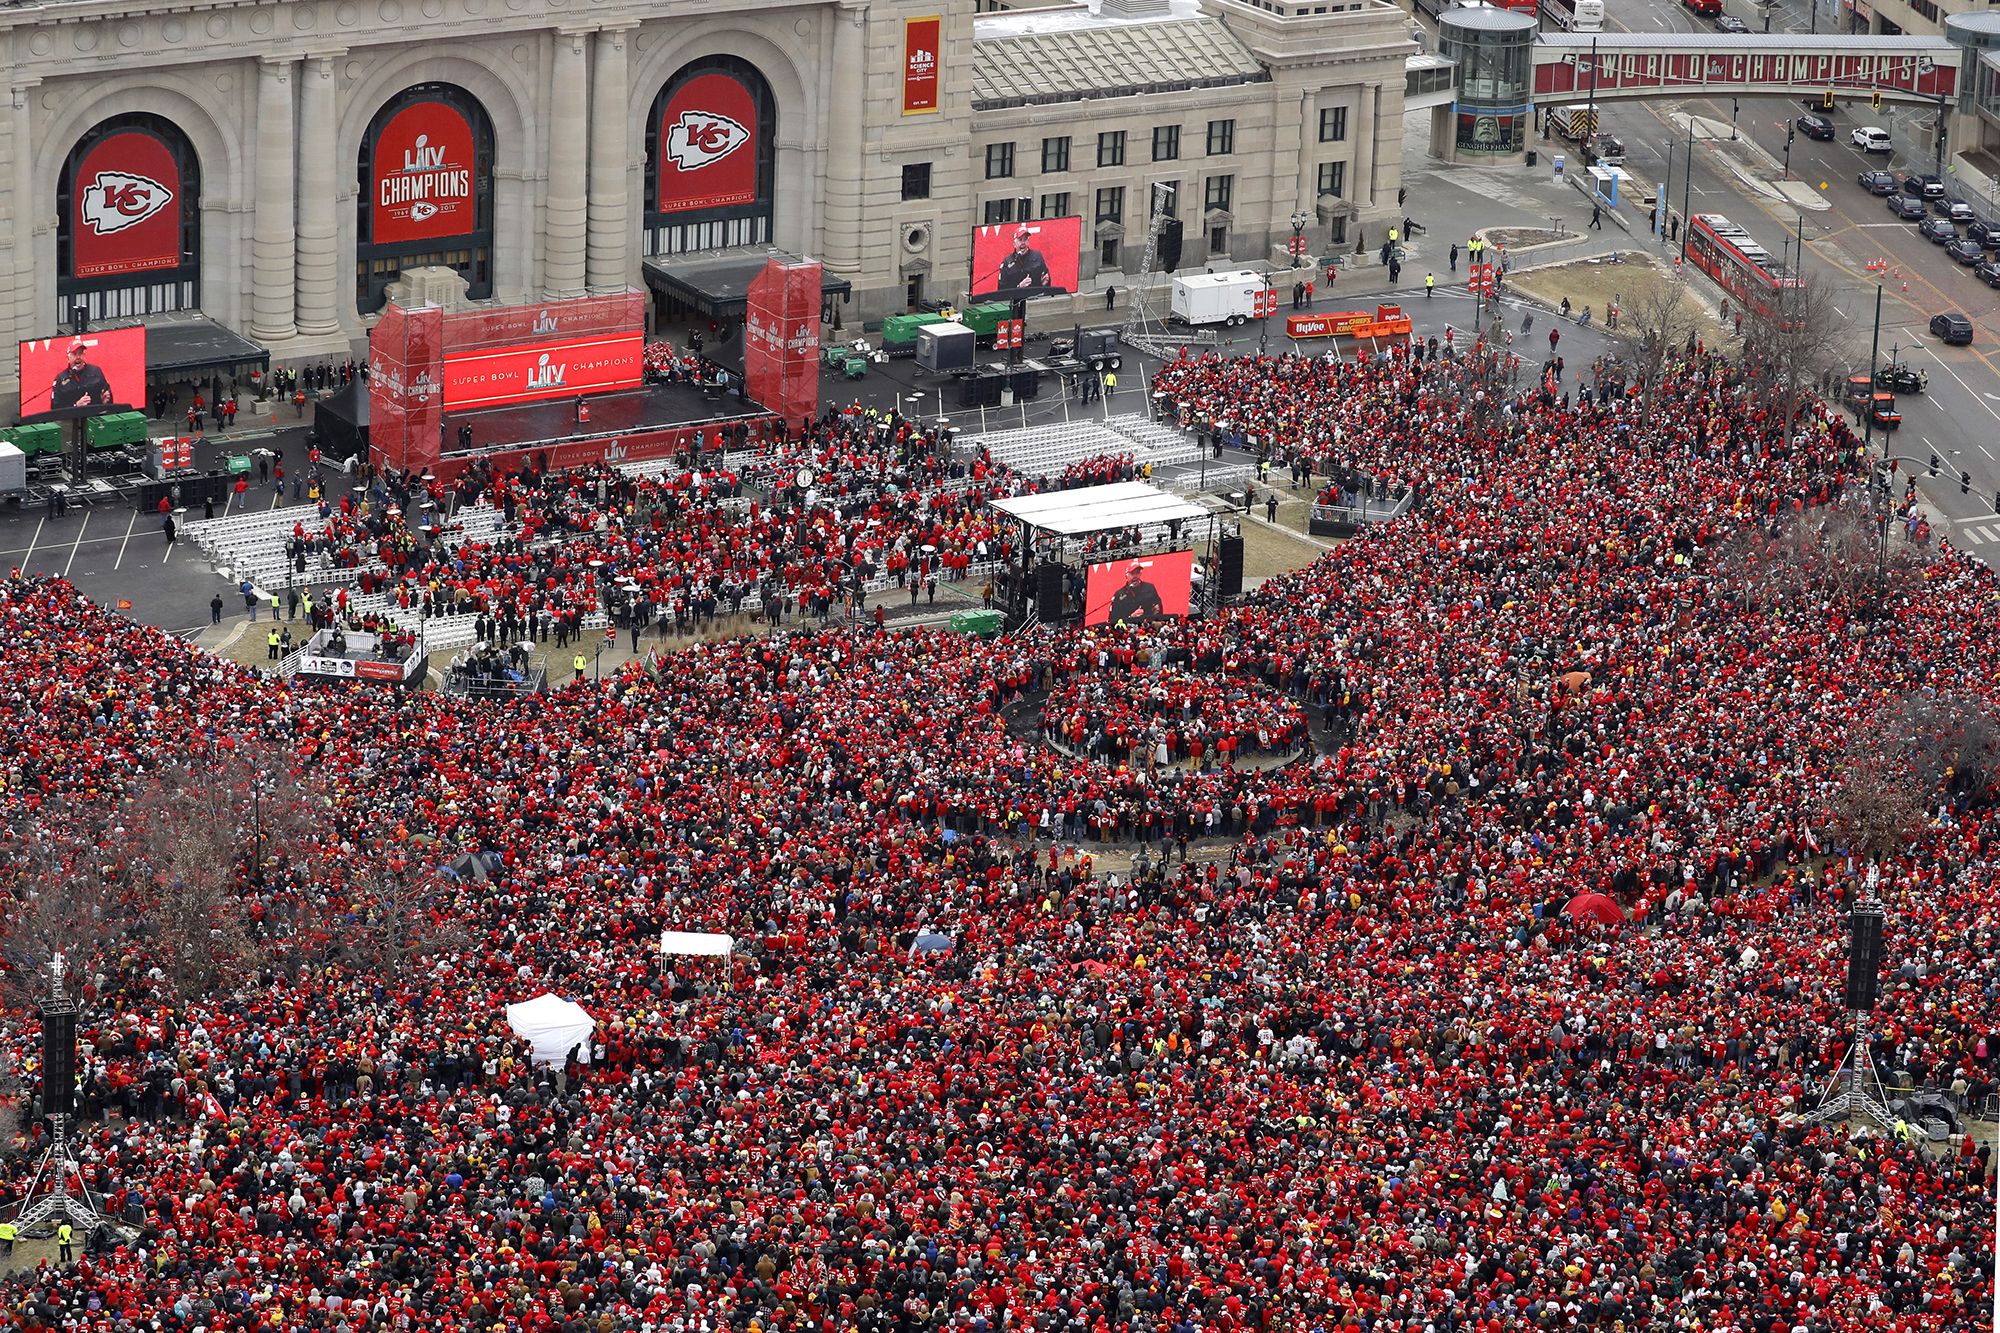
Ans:
{"label": "pale ribbed roof above the station's lower right wing", "polygon": [[974,20],[972,106],[1038,106],[1270,78],[1220,18],[1176,4],[1164,18],[1074,10]]}

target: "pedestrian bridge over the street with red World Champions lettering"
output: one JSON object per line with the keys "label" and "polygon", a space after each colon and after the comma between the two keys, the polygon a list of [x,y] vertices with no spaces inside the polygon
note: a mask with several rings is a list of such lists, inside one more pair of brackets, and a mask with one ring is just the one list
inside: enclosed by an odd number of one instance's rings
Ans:
{"label": "pedestrian bridge over the street with red World Champions lettering", "polygon": [[1884,102],[1936,106],[1958,92],[1960,60],[1970,54],[1944,38],[1918,36],[1548,32],[1534,44],[1532,100],[1880,92]]}

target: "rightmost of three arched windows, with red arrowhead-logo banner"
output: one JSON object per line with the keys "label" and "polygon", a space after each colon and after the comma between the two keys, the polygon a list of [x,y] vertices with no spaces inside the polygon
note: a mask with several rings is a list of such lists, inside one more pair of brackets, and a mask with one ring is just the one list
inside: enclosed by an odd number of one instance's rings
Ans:
{"label": "rightmost of three arched windows, with red arrowhead-logo banner", "polygon": [[778,102],[748,60],[684,64],[646,118],[646,254],[770,242]]}

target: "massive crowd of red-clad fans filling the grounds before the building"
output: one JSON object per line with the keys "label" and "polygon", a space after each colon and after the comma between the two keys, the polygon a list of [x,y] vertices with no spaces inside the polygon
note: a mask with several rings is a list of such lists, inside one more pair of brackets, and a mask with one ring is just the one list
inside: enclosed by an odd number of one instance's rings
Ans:
{"label": "massive crowd of red-clad fans filling the grounds before the building", "polygon": [[[1888,855],[1830,815],[1886,699],[1992,697],[1992,576],[1934,552],[1880,620],[1738,594],[1738,534],[1866,500],[1838,418],[1788,442],[1702,348],[1650,410],[1476,352],[1200,356],[1158,384],[1306,484],[1424,502],[1198,622],[862,620],[508,705],[268,681],[6,584],[10,827],[226,739],[310,787],[318,837],[242,877],[242,985],[166,997],[144,937],[86,979],[88,1169],[142,1239],[0,1297],[30,1327],[178,1333],[1982,1327],[1986,1151],[1786,1113],[1840,1059],[1864,885],[1872,1055],[1996,1089],[1992,775],[1926,793]],[[800,448],[928,466],[844,430]],[[584,578],[572,548],[644,588],[764,576],[780,538],[786,576],[828,582],[980,540],[972,498],[818,484],[738,526],[514,478],[572,542],[394,568],[532,610]],[[1256,681],[1324,737],[1194,771],[1012,725],[1142,662]],[[460,853],[482,873],[422,873]],[[422,895],[382,901],[380,867]],[[1570,921],[1586,889],[1630,923]],[[326,961],[308,909],[436,935]],[[734,935],[734,983],[660,929]],[[544,989],[600,1021],[560,1069],[502,1015]],[[12,1025],[30,1065],[32,1039]]]}

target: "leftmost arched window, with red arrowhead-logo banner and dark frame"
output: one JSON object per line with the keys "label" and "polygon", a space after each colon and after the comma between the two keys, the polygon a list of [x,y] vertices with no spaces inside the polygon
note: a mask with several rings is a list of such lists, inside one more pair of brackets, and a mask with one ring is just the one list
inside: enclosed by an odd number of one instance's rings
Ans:
{"label": "leftmost arched window, with red arrowhead-logo banner and dark frame", "polygon": [[56,178],[56,310],[128,318],[202,304],[202,164],[172,120],[104,120]]}

